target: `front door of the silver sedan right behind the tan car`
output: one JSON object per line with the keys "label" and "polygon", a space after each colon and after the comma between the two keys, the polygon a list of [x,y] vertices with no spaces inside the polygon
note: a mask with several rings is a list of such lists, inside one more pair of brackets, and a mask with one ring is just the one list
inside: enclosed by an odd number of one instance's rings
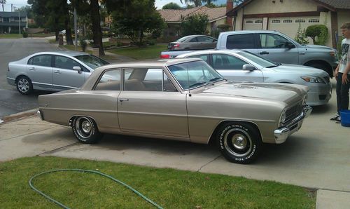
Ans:
{"label": "front door of the silver sedan right behind the tan car", "polygon": [[259,69],[253,71],[243,70],[243,65],[248,62],[233,55],[212,54],[213,68],[223,75],[225,79],[231,81],[253,81],[263,82],[264,77]]}

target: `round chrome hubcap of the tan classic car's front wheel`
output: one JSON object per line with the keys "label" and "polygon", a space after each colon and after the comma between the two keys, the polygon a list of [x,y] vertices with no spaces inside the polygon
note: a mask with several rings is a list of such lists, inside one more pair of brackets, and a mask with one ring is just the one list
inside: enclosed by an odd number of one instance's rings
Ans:
{"label": "round chrome hubcap of the tan classic car's front wheel", "polygon": [[253,142],[248,133],[239,128],[232,128],[224,137],[225,149],[234,156],[246,156],[246,154],[251,152],[252,144]]}

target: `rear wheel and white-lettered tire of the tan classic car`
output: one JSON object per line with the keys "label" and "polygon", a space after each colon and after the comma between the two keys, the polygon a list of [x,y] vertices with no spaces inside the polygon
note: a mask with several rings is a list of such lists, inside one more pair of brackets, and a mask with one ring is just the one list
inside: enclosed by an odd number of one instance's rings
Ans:
{"label": "rear wheel and white-lettered tire of the tan classic car", "polygon": [[76,139],[84,144],[94,144],[102,138],[102,133],[99,133],[94,120],[87,116],[76,116],[71,128]]}

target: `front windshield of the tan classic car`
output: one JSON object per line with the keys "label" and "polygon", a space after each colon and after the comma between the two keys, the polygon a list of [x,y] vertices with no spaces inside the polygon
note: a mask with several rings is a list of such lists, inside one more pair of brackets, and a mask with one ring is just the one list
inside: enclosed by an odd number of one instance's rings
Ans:
{"label": "front windshield of the tan classic car", "polygon": [[168,68],[183,90],[208,84],[214,85],[214,82],[224,80],[221,74],[218,74],[203,60],[170,65]]}

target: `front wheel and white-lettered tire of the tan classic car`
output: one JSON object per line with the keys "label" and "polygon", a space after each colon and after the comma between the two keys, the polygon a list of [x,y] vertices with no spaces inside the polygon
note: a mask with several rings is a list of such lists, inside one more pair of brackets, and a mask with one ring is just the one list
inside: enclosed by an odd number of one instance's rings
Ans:
{"label": "front wheel and white-lettered tire of the tan classic car", "polygon": [[233,163],[251,163],[262,149],[257,128],[248,123],[223,124],[216,135],[216,142],[225,159]]}

